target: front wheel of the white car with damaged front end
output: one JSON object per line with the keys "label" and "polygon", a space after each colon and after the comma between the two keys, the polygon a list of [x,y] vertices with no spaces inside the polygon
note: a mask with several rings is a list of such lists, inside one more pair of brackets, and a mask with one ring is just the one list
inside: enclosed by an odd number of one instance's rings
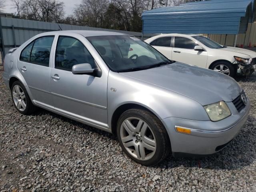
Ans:
{"label": "front wheel of the white car with damaged front end", "polygon": [[231,63],[228,63],[228,62],[224,62],[224,61],[216,62],[211,66],[210,69],[226,74],[230,77],[235,76],[235,68]]}

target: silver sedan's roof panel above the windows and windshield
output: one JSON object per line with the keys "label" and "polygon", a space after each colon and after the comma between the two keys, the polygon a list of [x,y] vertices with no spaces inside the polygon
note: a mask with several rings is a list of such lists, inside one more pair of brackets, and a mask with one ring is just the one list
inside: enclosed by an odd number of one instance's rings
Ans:
{"label": "silver sedan's roof panel above the windows and windshield", "polygon": [[45,32],[40,33],[40,36],[44,35],[55,35],[56,33],[62,34],[62,33],[76,33],[81,34],[84,37],[90,37],[90,36],[105,36],[105,35],[128,35],[125,33],[120,32],[112,32],[112,31],[100,31],[100,30],[63,30],[63,31],[52,31],[52,32]]}

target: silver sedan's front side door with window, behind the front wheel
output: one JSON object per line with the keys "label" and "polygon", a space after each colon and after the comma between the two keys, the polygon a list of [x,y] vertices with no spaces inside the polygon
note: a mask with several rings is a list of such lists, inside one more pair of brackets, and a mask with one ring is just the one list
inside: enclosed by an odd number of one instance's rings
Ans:
{"label": "silver sedan's front side door with window, behind the front wheel", "polygon": [[50,80],[54,110],[98,128],[107,128],[107,74],[95,77],[72,73],[75,64],[97,66],[84,46],[86,43],[80,34],[58,36]]}

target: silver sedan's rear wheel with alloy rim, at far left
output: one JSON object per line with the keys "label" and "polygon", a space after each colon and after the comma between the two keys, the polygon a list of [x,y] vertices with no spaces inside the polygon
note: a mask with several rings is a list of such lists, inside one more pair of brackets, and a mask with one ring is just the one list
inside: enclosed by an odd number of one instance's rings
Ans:
{"label": "silver sedan's rear wheel with alloy rim, at far left", "polygon": [[11,88],[12,101],[18,112],[24,115],[29,115],[36,110],[28,96],[26,88],[20,81],[15,81]]}

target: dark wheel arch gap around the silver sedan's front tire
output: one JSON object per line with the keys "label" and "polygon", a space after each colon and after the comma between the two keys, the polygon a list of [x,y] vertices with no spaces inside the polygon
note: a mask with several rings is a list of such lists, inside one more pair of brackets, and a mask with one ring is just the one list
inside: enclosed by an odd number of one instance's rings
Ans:
{"label": "dark wheel arch gap around the silver sedan's front tire", "polygon": [[118,119],[120,118],[120,116],[123,112],[125,112],[126,110],[129,110],[129,109],[143,109],[143,110],[146,110],[146,111],[154,114],[160,120],[159,116],[154,111],[146,108],[145,106],[142,106],[142,105],[136,104],[136,103],[122,104],[122,105],[118,106],[118,108],[116,108],[116,110],[114,111],[114,113],[112,114],[112,117],[111,117],[111,124],[110,124],[111,125],[111,132],[114,135],[116,135],[116,128],[117,128]]}

